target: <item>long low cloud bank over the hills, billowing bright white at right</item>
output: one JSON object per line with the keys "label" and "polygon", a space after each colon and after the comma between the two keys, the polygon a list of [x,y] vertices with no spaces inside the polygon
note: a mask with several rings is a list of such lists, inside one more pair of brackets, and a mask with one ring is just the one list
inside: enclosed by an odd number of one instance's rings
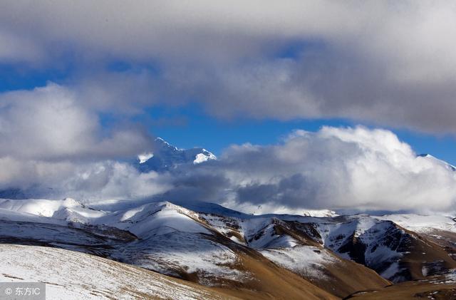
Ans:
{"label": "long low cloud bank over the hills, billowing bright white at right", "polygon": [[[15,171],[9,176],[30,180],[34,193],[40,187],[43,197],[88,202],[152,198],[217,202],[257,212],[449,212],[456,201],[452,167],[434,157],[417,156],[388,130],[359,126],[324,127],[315,133],[296,130],[277,145],[233,145],[219,160],[166,172],[140,173],[127,162],[106,160],[83,165],[40,162],[31,173],[28,163],[24,169],[16,163],[9,167]],[[7,180],[11,178],[0,181]]]}

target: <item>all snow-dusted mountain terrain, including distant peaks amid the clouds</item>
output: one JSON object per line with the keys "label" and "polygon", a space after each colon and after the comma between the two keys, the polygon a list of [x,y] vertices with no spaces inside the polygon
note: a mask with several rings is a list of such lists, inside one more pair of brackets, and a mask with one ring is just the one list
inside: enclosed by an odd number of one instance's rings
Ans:
{"label": "all snow-dusted mountain terrain, including distant peaks amid the clouds", "polygon": [[[178,167],[198,167],[216,159],[202,148],[182,150],[160,138],[156,144],[153,152],[132,162],[141,172],[173,174]],[[420,157],[437,160],[430,155]],[[12,196],[20,194],[11,191]],[[81,262],[93,264],[96,271],[88,268],[81,274],[98,274],[105,282],[99,284],[103,290],[126,289],[125,284],[107,278],[108,269],[121,272],[126,268],[130,274],[135,270],[131,268],[136,268],[140,271],[135,273],[138,278],[133,276],[135,281],[155,281],[144,284],[143,289],[129,290],[124,298],[130,299],[141,298],[141,293],[163,299],[358,298],[364,295],[358,291],[382,292],[392,283],[407,284],[416,279],[423,283],[418,284],[420,289],[433,288],[438,282],[456,290],[456,281],[447,280],[456,270],[456,222],[452,216],[338,215],[331,210],[261,214],[261,207],[259,214],[246,214],[185,199],[144,200],[140,204],[124,201],[125,205],[118,206],[122,209],[103,205],[101,210],[71,198],[0,199],[2,253],[11,252],[14,257],[12,252],[21,251],[33,260],[30,269],[10,263],[8,272],[1,276],[37,280],[49,276],[56,286],[68,288],[75,276],[52,277],[41,271],[39,263],[50,259],[64,262],[61,257],[65,256],[75,259],[73,269],[81,269]],[[90,294],[87,286],[92,279],[86,277],[78,281],[74,293]],[[182,279],[190,282],[182,285]],[[176,294],[158,291],[166,289],[164,286]],[[201,287],[200,294],[195,286]],[[91,291],[95,299],[106,296],[102,290]]]}

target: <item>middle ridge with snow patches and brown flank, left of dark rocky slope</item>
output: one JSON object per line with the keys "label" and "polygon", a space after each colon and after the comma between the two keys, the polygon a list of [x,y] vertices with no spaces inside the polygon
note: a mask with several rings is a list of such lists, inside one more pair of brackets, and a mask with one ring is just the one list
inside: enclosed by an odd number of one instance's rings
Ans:
{"label": "middle ridge with snow patches and brown flank, left of dark rocky slope", "polygon": [[342,259],[325,249],[297,229],[294,222],[279,219],[292,216],[246,215],[244,217],[247,218],[237,218],[200,214],[200,217],[233,241],[256,249],[272,262],[336,296],[343,297],[361,289],[380,288],[390,284],[375,271]]}

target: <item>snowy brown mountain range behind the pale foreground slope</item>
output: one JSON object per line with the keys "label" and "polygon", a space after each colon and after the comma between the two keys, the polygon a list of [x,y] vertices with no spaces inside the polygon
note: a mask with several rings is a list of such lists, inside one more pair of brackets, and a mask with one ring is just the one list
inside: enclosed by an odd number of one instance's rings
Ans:
{"label": "snowy brown mountain range behind the pale foreground slope", "polygon": [[[410,226],[425,223],[408,218]],[[344,297],[380,289],[387,279],[427,279],[456,269],[447,248],[404,227],[388,216],[252,215],[204,202],[150,202],[115,212],[71,199],[0,202],[2,243],[58,247],[205,286],[291,298]]]}

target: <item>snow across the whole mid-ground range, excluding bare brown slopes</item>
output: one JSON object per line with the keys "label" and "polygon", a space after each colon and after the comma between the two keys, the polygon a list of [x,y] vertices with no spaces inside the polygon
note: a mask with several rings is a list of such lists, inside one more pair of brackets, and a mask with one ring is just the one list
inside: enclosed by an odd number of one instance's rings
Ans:
{"label": "snow across the whole mid-ground range, excluding bare brown slopes", "polygon": [[[400,272],[398,263],[406,252],[400,252],[405,248],[398,249],[408,233],[390,219],[418,232],[429,228],[455,230],[455,222],[445,216],[257,216],[210,203],[184,205],[187,208],[170,202],[150,202],[108,212],[93,210],[72,199],[0,200],[1,234],[9,239],[15,237],[103,254],[172,276],[197,274],[200,283],[213,285],[217,283],[214,279],[245,281],[250,278],[247,271],[239,268],[242,260],[237,253],[217,240],[221,238],[218,233],[308,276],[321,276],[323,261],[330,263],[331,259],[338,259],[326,249],[344,259],[354,259],[349,249],[353,243],[361,242],[365,247],[363,263],[373,269],[378,267],[385,278],[391,279]],[[299,223],[303,226],[299,227]],[[287,234],[287,230],[292,229],[291,224],[326,249],[304,245],[298,237]],[[115,242],[119,237],[125,241]],[[309,269],[315,273],[311,274]]]}

